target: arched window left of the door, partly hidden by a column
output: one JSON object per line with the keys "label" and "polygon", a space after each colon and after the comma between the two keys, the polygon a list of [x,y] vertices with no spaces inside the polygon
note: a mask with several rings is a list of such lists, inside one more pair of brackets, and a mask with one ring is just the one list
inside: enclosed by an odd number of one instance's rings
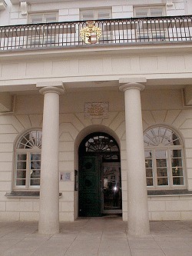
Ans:
{"label": "arched window left of the door, partly hidden by a column", "polygon": [[15,149],[14,187],[33,189],[40,186],[41,130],[28,131],[19,138]]}

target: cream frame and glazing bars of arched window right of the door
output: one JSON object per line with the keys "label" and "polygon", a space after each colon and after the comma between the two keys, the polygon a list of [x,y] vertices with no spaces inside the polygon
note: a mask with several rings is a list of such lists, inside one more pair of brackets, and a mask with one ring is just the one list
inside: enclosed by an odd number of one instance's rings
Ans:
{"label": "cream frame and glazing bars of arched window right of the door", "polygon": [[[175,135],[177,135],[177,138],[180,141],[180,145],[157,145],[157,146],[146,146],[144,145],[144,152],[146,151],[151,151],[151,158],[146,158],[145,157],[145,163],[147,159],[151,159],[152,161],[152,178],[153,178],[153,185],[147,185],[147,190],[168,190],[168,189],[183,189],[187,188],[187,182],[186,182],[186,170],[185,170],[185,155],[184,155],[184,143],[183,140],[181,139],[180,135],[178,135],[178,132],[175,131],[173,128],[167,127],[166,125],[157,125],[153,126],[151,128],[147,128],[146,131],[144,131],[144,135],[147,133],[147,131],[150,131],[153,128],[165,128],[169,129],[170,131],[174,132]],[[174,185],[174,175],[173,175],[173,166],[172,166],[172,155],[171,151],[174,150],[180,150],[181,151],[181,161],[182,161],[182,170],[183,170],[183,176],[178,176],[182,177],[184,184],[183,185]],[[168,185],[157,185],[157,158],[155,156],[156,151],[166,151],[167,154],[167,180],[168,180]],[[147,167],[145,168],[147,170]],[[147,176],[146,173],[146,182],[147,182]],[[175,176],[177,177],[177,176]]]}

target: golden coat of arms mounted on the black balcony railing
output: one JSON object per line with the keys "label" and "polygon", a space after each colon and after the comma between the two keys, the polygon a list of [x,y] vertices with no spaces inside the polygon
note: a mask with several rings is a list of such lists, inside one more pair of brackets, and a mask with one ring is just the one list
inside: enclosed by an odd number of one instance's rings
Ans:
{"label": "golden coat of arms mounted on the black balcony railing", "polygon": [[101,28],[96,27],[94,23],[95,22],[88,21],[86,22],[87,26],[80,30],[81,38],[85,44],[96,44],[102,35]]}

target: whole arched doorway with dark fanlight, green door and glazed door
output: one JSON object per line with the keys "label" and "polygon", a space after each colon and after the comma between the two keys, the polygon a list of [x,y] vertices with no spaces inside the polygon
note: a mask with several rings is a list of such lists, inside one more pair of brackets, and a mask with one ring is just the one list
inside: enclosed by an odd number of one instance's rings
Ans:
{"label": "whole arched doorway with dark fanlight, green door and glazed door", "polygon": [[120,214],[121,160],[118,143],[110,135],[94,132],[86,136],[79,155],[79,216]]}

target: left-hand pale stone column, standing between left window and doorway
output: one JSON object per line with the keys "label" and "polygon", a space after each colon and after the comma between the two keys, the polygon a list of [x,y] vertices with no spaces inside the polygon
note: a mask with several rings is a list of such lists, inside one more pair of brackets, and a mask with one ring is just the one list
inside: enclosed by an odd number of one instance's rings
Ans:
{"label": "left-hand pale stone column, standing between left window and doorway", "polygon": [[57,87],[41,88],[44,95],[41,184],[38,232],[56,234],[59,232],[59,95],[64,90]]}

